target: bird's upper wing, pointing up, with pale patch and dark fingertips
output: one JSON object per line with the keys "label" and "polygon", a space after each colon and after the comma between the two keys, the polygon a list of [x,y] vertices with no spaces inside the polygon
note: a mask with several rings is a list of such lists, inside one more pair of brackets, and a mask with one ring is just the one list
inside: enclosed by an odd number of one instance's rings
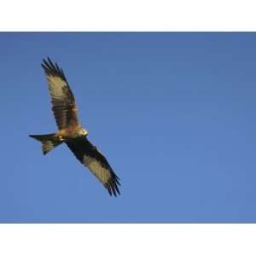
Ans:
{"label": "bird's upper wing, pointing up, with pale patch and dark fingertips", "polygon": [[63,70],[57,63],[54,65],[49,58],[48,61],[43,60],[43,62],[41,65],[49,85],[56,124],[60,130],[70,125],[79,125],[78,109]]}

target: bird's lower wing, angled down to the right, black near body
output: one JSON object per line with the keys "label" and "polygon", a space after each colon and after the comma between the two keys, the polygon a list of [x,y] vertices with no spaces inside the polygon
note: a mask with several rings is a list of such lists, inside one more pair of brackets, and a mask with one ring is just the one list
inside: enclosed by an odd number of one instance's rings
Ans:
{"label": "bird's lower wing, angled down to the right, black near body", "polygon": [[118,185],[119,177],[113,172],[106,158],[94,147],[87,138],[77,138],[67,142],[67,147],[76,158],[87,166],[99,181],[108,189],[110,195],[120,194]]}

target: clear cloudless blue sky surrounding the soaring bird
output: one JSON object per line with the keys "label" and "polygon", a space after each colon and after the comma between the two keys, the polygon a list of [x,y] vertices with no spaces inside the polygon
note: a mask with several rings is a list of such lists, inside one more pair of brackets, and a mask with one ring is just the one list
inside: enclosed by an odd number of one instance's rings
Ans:
{"label": "clear cloudless blue sky surrounding the soaring bird", "polygon": [[[256,222],[256,33],[0,33],[0,222]],[[40,63],[120,177],[108,191],[56,131]]]}

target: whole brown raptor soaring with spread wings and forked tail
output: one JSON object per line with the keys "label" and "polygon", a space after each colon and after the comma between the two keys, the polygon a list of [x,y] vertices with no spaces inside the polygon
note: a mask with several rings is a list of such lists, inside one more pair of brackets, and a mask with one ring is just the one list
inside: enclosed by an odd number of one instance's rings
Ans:
{"label": "whole brown raptor soaring with spread wings and forked tail", "polygon": [[49,57],[41,64],[49,87],[52,111],[59,128],[56,133],[30,135],[42,143],[43,154],[66,143],[75,157],[108,189],[109,195],[119,192],[119,177],[113,172],[104,155],[87,139],[88,131],[79,122],[78,108],[63,70]]}

